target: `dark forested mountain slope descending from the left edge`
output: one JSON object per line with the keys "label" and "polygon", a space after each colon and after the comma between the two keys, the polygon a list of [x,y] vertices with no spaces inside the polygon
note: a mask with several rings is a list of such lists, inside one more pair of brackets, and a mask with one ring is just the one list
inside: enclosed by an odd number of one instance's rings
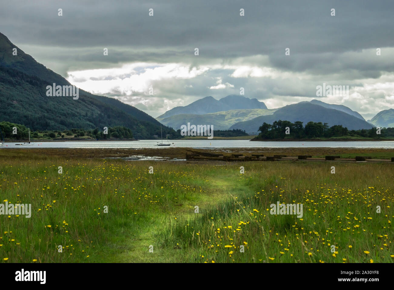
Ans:
{"label": "dark forested mountain slope descending from the left edge", "polygon": [[[118,100],[79,90],[79,98],[48,97],[46,86],[70,83],[36,62],[0,34],[0,121],[22,123],[31,130],[125,126],[135,138],[160,136],[160,123]],[[164,134],[175,131],[163,127]]]}

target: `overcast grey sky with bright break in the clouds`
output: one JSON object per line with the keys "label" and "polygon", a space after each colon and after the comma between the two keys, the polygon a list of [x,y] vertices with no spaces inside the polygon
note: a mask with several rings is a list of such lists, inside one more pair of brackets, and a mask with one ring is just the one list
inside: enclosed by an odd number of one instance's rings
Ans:
{"label": "overcast grey sky with bright break in the clouds", "polygon": [[[0,7],[0,32],[35,60],[153,117],[241,87],[269,109],[320,99],[368,120],[394,108],[392,0],[0,0]],[[348,85],[349,98],[317,97],[323,82]]]}

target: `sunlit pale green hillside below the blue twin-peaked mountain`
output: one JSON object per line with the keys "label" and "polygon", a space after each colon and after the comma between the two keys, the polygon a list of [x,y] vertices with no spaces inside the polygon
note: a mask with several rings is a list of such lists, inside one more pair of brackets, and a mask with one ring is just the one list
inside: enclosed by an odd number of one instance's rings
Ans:
{"label": "sunlit pale green hillside below the blue twin-peaked mountain", "polygon": [[258,116],[273,114],[275,110],[277,109],[242,109],[215,112],[204,115],[179,114],[164,119],[158,118],[158,120],[175,130],[180,129],[181,125],[186,125],[188,122],[191,124],[214,125],[214,129],[216,130],[227,130],[231,125],[237,122],[251,120]]}

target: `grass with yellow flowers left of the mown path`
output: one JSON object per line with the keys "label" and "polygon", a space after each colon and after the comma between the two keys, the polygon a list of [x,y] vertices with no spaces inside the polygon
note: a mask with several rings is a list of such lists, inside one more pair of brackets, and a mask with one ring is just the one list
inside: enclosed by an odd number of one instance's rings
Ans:
{"label": "grass with yellow flowers left of the mown path", "polygon": [[0,203],[32,205],[30,218],[0,215],[2,262],[110,261],[157,215],[205,191],[196,185],[204,184],[199,170],[188,166],[15,157],[2,164]]}

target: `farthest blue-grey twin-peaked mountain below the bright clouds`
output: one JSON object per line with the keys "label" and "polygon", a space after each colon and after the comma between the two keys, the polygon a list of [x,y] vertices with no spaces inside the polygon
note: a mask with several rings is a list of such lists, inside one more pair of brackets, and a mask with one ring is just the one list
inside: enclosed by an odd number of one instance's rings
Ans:
{"label": "farthest blue-grey twin-peaked mountain below the bright clouds", "polygon": [[168,110],[156,119],[164,119],[179,114],[203,115],[237,109],[267,109],[267,107],[263,102],[257,99],[249,99],[240,95],[228,95],[227,97],[221,98],[219,101],[212,96],[208,96],[194,101],[187,106],[178,106]]}

